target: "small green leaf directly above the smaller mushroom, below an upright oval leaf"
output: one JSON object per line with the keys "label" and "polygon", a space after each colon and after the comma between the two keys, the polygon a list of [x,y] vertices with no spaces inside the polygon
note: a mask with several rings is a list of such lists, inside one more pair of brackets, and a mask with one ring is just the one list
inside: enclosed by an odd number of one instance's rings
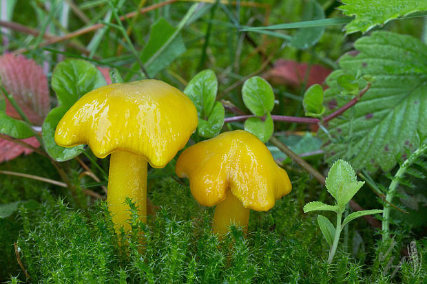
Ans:
{"label": "small green leaf directly above the smaller mushroom, below an upright oval leaf", "polygon": [[204,138],[213,138],[218,135],[224,125],[225,109],[220,102],[215,102],[209,118],[199,119],[198,133]]}

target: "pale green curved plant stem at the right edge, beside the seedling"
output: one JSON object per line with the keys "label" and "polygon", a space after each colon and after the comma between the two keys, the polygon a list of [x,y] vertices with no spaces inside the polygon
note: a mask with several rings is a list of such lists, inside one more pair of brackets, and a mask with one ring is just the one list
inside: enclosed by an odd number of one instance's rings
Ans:
{"label": "pale green curved plant stem at the right edge, beside the seedling", "polygon": [[400,180],[408,170],[408,168],[417,160],[417,158],[427,150],[427,141],[421,142],[421,145],[414,153],[408,156],[408,159],[399,167],[399,170],[395,173],[393,180],[388,186],[386,193],[386,203],[384,204],[384,212],[382,212],[382,241],[390,239],[390,210],[392,206],[393,198],[395,197],[397,186]]}

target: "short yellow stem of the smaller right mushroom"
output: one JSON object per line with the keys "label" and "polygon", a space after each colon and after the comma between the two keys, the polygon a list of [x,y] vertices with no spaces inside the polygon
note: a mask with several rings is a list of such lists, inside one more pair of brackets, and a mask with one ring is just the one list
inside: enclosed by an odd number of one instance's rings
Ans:
{"label": "short yellow stem of the smaller right mushroom", "polygon": [[224,201],[215,208],[212,222],[213,232],[221,235],[227,234],[231,225],[240,226],[246,232],[249,222],[249,212],[248,208],[243,207],[242,201],[228,190]]}

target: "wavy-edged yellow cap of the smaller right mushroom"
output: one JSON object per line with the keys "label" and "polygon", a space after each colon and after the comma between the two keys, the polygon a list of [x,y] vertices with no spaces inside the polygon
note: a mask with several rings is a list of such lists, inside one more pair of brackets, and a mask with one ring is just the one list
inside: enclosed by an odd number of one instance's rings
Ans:
{"label": "wavy-edged yellow cap of the smaller right mushroom", "polygon": [[287,172],[275,164],[267,146],[242,130],[185,149],[175,171],[178,177],[189,178],[191,194],[203,206],[220,203],[231,190],[245,208],[267,211],[292,188]]}

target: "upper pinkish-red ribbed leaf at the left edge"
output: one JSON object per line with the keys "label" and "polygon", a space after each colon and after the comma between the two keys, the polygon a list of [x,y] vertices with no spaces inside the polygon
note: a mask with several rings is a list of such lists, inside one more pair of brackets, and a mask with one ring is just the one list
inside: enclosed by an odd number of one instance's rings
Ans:
{"label": "upper pinkish-red ribbed leaf at the left edge", "polygon": [[[28,119],[41,125],[50,110],[48,79],[43,68],[22,55],[4,54],[0,56],[0,78]],[[7,101],[6,113],[20,118]]]}

